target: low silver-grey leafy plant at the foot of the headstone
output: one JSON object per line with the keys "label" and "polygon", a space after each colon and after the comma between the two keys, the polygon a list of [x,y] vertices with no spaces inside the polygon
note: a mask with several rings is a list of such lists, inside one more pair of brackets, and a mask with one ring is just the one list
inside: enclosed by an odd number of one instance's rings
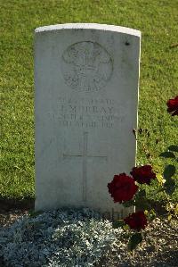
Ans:
{"label": "low silver-grey leafy plant at the foot of the headstone", "polygon": [[93,266],[119,231],[88,208],[26,215],[0,229],[0,257],[8,267]]}

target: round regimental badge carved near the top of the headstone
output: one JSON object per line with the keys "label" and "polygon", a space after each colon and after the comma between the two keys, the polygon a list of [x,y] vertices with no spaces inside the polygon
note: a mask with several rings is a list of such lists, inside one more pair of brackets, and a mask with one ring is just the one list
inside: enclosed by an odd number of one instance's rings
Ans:
{"label": "round regimental badge carved near the top of the headstone", "polygon": [[98,91],[109,81],[112,59],[101,45],[79,42],[62,54],[62,73],[67,85],[77,91]]}

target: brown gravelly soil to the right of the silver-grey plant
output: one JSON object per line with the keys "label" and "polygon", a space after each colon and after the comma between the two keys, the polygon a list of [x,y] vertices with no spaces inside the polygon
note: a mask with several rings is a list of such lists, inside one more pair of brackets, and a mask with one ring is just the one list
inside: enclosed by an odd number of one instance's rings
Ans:
{"label": "brown gravelly soil to the right of the silver-grey plant", "polygon": [[134,252],[126,251],[125,238],[128,231],[122,233],[115,244],[104,255],[100,267],[125,266],[178,266],[178,222],[157,218],[144,231],[144,241]]}

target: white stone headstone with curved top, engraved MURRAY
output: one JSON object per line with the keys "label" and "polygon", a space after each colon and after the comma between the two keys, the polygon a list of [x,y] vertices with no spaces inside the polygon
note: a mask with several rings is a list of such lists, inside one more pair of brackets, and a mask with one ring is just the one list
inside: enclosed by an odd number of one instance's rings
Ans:
{"label": "white stone headstone with curved top, engraved MURRAY", "polygon": [[107,184],[135,164],[140,40],[101,24],[36,29],[36,210],[124,215]]}

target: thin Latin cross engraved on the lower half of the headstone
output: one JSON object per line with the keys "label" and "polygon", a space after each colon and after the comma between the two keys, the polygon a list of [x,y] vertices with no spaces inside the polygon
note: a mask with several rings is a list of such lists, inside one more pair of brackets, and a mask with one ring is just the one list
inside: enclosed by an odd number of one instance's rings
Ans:
{"label": "thin Latin cross engraved on the lower half of the headstone", "polygon": [[63,154],[63,158],[69,157],[81,157],[83,162],[83,201],[86,201],[86,184],[87,184],[87,158],[97,157],[107,160],[106,155],[89,155],[88,154],[88,133],[84,132],[84,141],[83,141],[83,153],[82,154]]}

